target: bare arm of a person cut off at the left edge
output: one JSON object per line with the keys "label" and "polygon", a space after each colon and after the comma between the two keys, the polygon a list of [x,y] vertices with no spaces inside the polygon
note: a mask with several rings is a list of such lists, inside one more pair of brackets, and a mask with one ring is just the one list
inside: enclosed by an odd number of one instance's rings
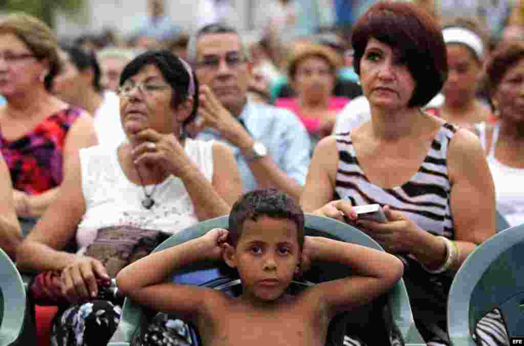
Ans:
{"label": "bare arm of a person cut off at the left edge", "polygon": [[9,170],[2,157],[0,157],[0,200],[2,200],[0,203],[0,247],[14,259],[22,236],[20,224],[16,219]]}

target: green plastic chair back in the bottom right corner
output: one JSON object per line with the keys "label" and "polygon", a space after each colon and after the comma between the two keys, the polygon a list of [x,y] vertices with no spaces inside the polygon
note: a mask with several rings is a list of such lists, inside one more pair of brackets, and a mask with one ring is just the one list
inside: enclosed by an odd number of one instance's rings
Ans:
{"label": "green plastic chair back in the bottom right corner", "polygon": [[451,284],[447,328],[453,346],[476,346],[479,319],[501,310],[509,336],[524,331],[524,225],[496,233],[473,251]]}

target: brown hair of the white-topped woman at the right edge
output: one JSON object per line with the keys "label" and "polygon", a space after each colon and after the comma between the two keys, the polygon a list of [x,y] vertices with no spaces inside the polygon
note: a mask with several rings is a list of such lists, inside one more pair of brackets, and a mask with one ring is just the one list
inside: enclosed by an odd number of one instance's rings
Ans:
{"label": "brown hair of the white-topped woman at the right edge", "polygon": [[509,69],[524,59],[524,43],[511,41],[495,50],[486,64],[485,86],[490,96],[497,91]]}

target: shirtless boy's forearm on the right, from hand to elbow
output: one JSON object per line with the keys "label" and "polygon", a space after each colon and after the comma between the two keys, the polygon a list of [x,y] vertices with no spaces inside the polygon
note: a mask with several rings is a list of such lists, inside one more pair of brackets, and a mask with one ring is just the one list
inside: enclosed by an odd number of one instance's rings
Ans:
{"label": "shirtless boy's forearm on the right, from hand to elbow", "polygon": [[313,237],[313,261],[345,264],[355,274],[370,277],[387,277],[402,270],[402,262],[394,255],[362,245]]}

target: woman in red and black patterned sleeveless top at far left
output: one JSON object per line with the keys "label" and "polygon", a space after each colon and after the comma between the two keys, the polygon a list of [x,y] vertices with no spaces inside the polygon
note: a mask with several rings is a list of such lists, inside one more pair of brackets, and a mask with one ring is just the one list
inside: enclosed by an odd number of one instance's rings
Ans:
{"label": "woman in red and black patterned sleeveless top at far left", "polygon": [[38,19],[0,19],[0,150],[17,215],[39,217],[57,195],[63,166],[96,144],[93,119],[49,93],[59,71],[57,39]]}

